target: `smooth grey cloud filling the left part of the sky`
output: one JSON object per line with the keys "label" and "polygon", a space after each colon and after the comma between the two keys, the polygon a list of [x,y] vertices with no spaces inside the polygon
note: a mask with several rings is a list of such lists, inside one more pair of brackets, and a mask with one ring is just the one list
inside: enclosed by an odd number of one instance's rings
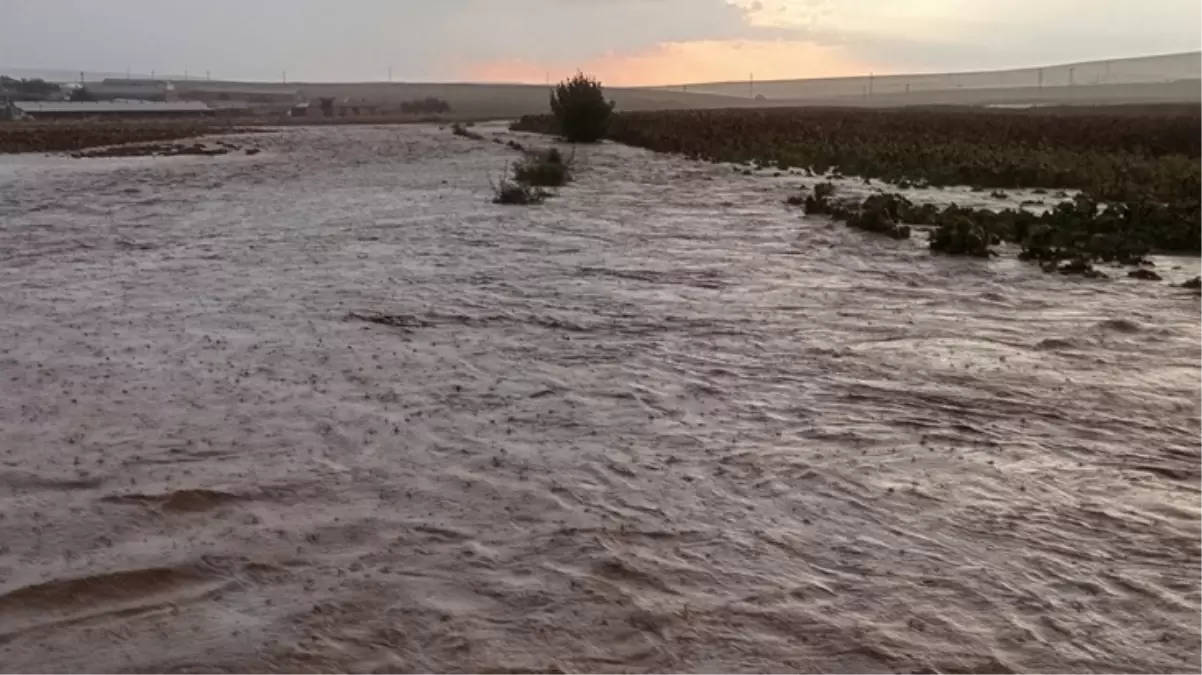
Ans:
{"label": "smooth grey cloud filling the left part of the sky", "polygon": [[[19,1],[19,0],[18,0]],[[447,77],[486,59],[560,62],[662,42],[783,38],[726,0],[56,0],[5,8],[0,66],[228,77]]]}

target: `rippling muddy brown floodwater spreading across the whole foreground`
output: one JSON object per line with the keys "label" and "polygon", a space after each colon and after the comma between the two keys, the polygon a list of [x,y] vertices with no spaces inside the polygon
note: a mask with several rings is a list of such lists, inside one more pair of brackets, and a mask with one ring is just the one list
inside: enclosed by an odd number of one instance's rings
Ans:
{"label": "rippling muddy brown floodwater spreading across the whole foreground", "polygon": [[617,145],[514,208],[448,130],[254,144],[0,157],[0,673],[1202,673],[1197,261],[933,257]]}

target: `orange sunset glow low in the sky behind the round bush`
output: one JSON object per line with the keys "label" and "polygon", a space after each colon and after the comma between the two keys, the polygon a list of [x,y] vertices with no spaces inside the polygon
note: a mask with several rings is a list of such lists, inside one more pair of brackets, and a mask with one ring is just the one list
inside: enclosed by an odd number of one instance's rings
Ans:
{"label": "orange sunset glow low in the sky behind the round bush", "polygon": [[581,64],[542,64],[522,59],[466,64],[458,68],[471,82],[541,83],[577,70],[617,86],[690,82],[791,79],[864,74],[871,66],[838,48],[807,42],[673,42],[639,53],[607,54]]}

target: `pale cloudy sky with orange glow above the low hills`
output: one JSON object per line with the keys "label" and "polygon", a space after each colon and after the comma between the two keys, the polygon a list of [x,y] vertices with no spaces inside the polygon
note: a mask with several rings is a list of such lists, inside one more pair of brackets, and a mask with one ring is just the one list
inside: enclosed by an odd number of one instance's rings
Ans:
{"label": "pale cloudy sky with orange glow above the low hills", "polygon": [[0,0],[0,70],[650,85],[1185,52],[1197,26],[1202,0]]}

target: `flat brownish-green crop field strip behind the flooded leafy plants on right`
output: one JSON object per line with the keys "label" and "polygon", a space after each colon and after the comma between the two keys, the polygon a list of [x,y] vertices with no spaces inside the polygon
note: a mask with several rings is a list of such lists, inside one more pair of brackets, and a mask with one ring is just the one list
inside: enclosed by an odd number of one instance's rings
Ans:
{"label": "flat brownish-green crop field strip behind the flooded leafy plants on right", "polygon": [[[551,115],[518,131],[553,132]],[[1107,201],[1192,197],[1202,114],[969,109],[726,109],[615,114],[607,137],[698,160],[918,185],[1075,189]]]}

